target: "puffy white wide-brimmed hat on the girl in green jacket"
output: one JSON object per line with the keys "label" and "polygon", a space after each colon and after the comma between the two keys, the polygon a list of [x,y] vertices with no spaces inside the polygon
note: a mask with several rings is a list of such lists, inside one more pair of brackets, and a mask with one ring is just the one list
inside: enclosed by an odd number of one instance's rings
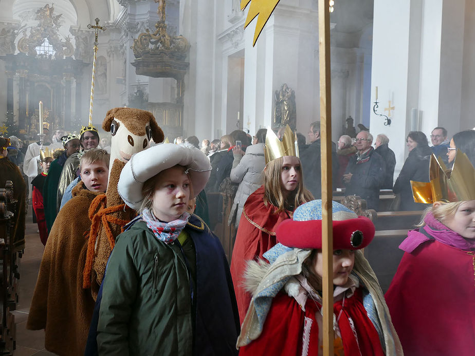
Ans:
{"label": "puffy white wide-brimmed hat on the girl in green jacket", "polygon": [[142,204],[143,183],[161,171],[175,165],[188,168],[194,198],[201,192],[211,174],[211,164],[208,157],[200,149],[189,145],[163,143],[145,149],[133,155],[120,173],[117,190],[120,197],[134,210]]}

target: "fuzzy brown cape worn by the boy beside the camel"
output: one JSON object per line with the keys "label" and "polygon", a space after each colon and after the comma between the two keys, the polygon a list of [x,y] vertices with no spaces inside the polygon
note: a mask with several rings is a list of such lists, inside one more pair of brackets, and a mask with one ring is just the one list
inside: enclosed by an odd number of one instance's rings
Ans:
{"label": "fuzzy brown cape worn by the boy beside the camel", "polygon": [[27,328],[45,329],[45,348],[60,355],[83,355],[94,310],[90,290],[82,288],[90,203],[100,193],[79,182],[60,210],[46,243]]}

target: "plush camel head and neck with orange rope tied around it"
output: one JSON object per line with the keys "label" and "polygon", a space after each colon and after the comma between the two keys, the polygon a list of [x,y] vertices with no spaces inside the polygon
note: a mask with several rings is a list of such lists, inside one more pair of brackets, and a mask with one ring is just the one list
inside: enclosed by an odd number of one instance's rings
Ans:
{"label": "plush camel head and neck with orange rope tied around it", "polygon": [[109,182],[107,192],[94,199],[89,208],[92,225],[83,275],[83,288],[90,288],[94,299],[117,235],[137,215],[125,205],[117,192],[120,172],[133,154],[149,147],[150,139],[160,143],[164,138],[163,131],[149,111],[128,107],[109,110],[102,128],[112,135]]}

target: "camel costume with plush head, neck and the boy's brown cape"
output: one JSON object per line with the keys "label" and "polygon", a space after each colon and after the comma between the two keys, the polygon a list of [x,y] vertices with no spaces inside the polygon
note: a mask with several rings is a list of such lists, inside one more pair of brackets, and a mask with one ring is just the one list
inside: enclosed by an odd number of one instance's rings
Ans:
{"label": "camel costume with plush head, neck and the boy's brown cape", "polygon": [[60,355],[84,354],[96,287],[115,238],[136,215],[117,193],[120,172],[151,138],[163,141],[154,116],[145,110],[109,110],[102,127],[112,134],[107,191],[90,192],[82,181],[72,190],[46,243],[28,315],[27,328],[45,329],[45,348]]}

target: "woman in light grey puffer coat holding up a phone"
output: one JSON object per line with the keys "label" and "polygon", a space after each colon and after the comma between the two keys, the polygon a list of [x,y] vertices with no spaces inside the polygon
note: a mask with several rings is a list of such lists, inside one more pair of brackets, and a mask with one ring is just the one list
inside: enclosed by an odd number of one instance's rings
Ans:
{"label": "woman in light grey puffer coat holding up a phone", "polygon": [[265,128],[259,129],[252,139],[252,145],[247,147],[246,154],[239,147],[232,149],[234,161],[232,162],[230,177],[231,181],[239,183],[239,187],[229,214],[229,225],[235,218],[235,226],[238,227],[244,203],[249,195],[254,193],[262,184],[262,172],[266,165],[264,158],[266,132],[267,129]]}

